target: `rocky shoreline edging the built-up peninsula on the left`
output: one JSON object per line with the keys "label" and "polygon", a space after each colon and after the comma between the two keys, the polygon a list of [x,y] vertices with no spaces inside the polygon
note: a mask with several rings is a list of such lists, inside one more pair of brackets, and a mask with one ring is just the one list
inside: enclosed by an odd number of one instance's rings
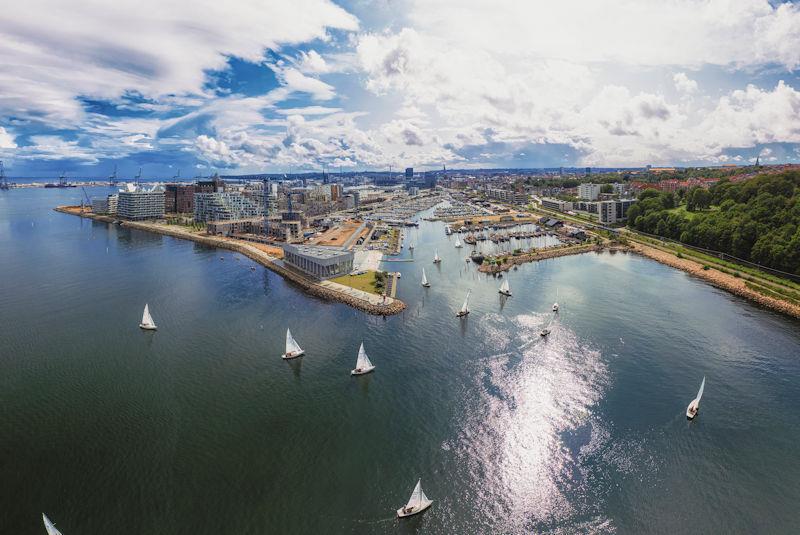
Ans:
{"label": "rocky shoreline edging the built-up peninsula on the left", "polygon": [[[53,208],[53,210],[55,210],[56,212],[61,212],[63,214],[74,215],[86,219],[92,219],[94,221],[100,221],[103,223],[107,223],[109,225],[113,225],[114,221],[116,220],[113,217],[93,214],[91,212],[79,212],[76,211],[75,208],[76,207],[58,206],[56,208]],[[303,291],[305,291],[310,295],[325,299],[326,301],[335,301],[343,303],[345,305],[349,305],[353,308],[356,308],[368,314],[373,314],[375,316],[393,316],[395,314],[399,314],[406,308],[406,304],[397,298],[387,297],[386,304],[378,304],[375,302],[370,302],[365,297],[360,296],[359,294],[366,295],[366,292],[361,292],[360,290],[356,290],[355,288],[350,288],[349,286],[344,286],[342,284],[337,284],[330,281],[315,281],[309,279],[305,275],[296,272],[291,268],[287,268],[283,265],[278,264],[277,262],[280,262],[278,258],[275,258],[274,256],[271,256],[266,252],[261,251],[260,249],[256,248],[253,245],[248,244],[247,242],[232,241],[226,238],[220,238],[216,236],[194,234],[191,232],[182,231],[179,228],[169,228],[166,225],[158,225],[155,223],[124,221],[121,223],[121,226],[134,228],[137,230],[144,230],[147,232],[152,232],[154,234],[170,236],[172,238],[194,241],[197,243],[201,243],[203,245],[208,245],[210,247],[216,247],[218,249],[227,249],[229,251],[243,254],[244,256],[253,260],[257,264],[264,266],[265,268],[277,273],[278,275],[282,276],[288,281],[300,286],[303,289]],[[376,300],[379,299],[377,295],[375,295],[374,297],[376,298]]]}

